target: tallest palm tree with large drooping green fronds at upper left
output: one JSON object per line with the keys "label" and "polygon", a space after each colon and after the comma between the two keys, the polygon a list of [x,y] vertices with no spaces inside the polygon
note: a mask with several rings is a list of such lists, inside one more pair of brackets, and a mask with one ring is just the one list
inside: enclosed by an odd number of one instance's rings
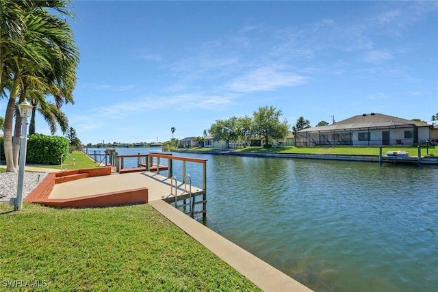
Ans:
{"label": "tallest palm tree with large drooping green fronds at upper left", "polygon": [[[1,5],[9,5],[11,0],[0,0]],[[8,36],[10,42],[1,44],[5,51],[1,57],[2,72],[10,80],[1,80],[3,86],[8,85],[10,97],[5,114],[5,158],[7,171],[14,172],[18,167],[19,129],[14,135],[12,146],[12,119],[14,116],[15,101],[20,93],[20,101],[25,101],[27,88],[41,88],[53,96],[72,101],[72,91],[75,85],[75,68],[79,62],[79,53],[73,42],[73,32],[68,24],[59,16],[50,14],[46,8],[54,8],[57,12],[73,16],[66,8],[67,1],[18,1],[14,16],[21,16],[24,25],[20,48],[15,46],[16,35],[8,35],[1,27],[1,35]],[[12,17],[12,16],[11,16]],[[20,18],[20,17],[17,17]],[[5,21],[8,22],[8,21]],[[12,21],[13,22],[13,19]],[[19,25],[18,25],[19,26]],[[31,55],[32,57],[29,57]],[[38,61],[38,62],[36,62]],[[21,117],[16,115],[16,125],[21,124]],[[14,149],[13,149],[14,148]],[[16,153],[16,154],[15,154]]]}

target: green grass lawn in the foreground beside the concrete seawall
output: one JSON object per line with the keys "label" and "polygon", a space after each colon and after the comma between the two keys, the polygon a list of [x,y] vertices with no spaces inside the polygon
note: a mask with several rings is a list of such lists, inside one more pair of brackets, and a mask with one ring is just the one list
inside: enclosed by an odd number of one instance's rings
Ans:
{"label": "green grass lawn in the foreground beside the concrete seawall", "polygon": [[0,226],[1,280],[38,291],[259,291],[149,204],[0,204]]}

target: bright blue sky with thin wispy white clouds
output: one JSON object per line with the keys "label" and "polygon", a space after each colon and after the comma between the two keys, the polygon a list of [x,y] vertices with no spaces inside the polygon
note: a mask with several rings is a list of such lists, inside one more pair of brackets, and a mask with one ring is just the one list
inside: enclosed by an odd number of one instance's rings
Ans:
{"label": "bright blue sky with thin wispy white clouds", "polygon": [[[63,105],[83,144],[201,136],[282,111],[292,126],[438,112],[438,1],[73,1]],[[0,101],[4,111],[6,101]],[[38,133],[49,135],[42,117]],[[57,133],[62,135],[62,133]]]}

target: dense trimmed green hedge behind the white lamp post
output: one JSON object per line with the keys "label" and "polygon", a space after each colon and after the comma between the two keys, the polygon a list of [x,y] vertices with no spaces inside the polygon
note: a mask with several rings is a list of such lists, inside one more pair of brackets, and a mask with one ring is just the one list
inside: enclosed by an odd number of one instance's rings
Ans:
{"label": "dense trimmed green hedge behind the white lamp post", "polygon": [[29,135],[26,163],[61,164],[61,155],[68,152],[68,146],[66,137],[42,134]]}

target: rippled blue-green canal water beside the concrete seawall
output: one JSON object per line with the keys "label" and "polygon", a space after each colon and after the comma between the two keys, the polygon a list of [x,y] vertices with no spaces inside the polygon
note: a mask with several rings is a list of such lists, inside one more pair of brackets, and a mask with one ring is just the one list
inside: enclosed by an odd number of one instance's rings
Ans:
{"label": "rippled blue-green canal water beside the concrete seawall", "polygon": [[311,289],[437,291],[437,167],[174,155],[208,159],[209,228]]}

